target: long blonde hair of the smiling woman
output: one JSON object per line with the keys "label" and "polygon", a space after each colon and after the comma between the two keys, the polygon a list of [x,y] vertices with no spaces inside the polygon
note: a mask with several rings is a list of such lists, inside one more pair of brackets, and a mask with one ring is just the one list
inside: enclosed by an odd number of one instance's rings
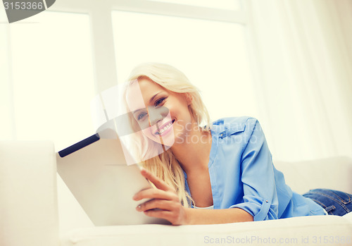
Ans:
{"label": "long blonde hair of the smiling woman", "polygon": [[[177,68],[174,68],[164,63],[142,63],[132,70],[128,81],[136,81],[142,78],[149,79],[156,84],[164,87],[166,90],[177,93],[188,93],[191,97],[189,111],[193,116],[197,125],[201,126],[204,131],[210,130],[210,117],[206,106],[203,104],[201,94],[197,87],[189,82],[188,78]],[[137,121],[130,117],[132,128],[137,126]],[[140,133],[140,132],[139,132]],[[144,160],[139,165],[151,171],[158,178],[161,178],[168,185],[175,188],[177,195],[184,207],[190,207],[194,200],[185,190],[184,173],[171,149],[168,149],[156,156],[150,156],[150,153],[155,153],[155,142],[148,137],[139,134],[139,149],[135,149],[134,154],[139,154],[140,159]],[[142,144],[141,144],[142,140]],[[138,142],[137,141],[137,142]],[[154,149],[152,150],[154,146]]]}

